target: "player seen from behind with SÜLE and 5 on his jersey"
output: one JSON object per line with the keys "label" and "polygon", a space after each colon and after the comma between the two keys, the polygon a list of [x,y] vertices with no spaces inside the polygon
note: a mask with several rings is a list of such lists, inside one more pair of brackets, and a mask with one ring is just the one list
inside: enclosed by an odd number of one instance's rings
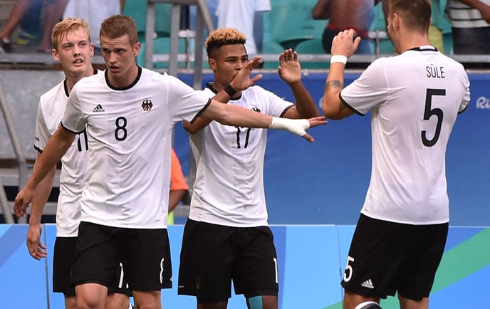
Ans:
{"label": "player seen from behind with S\u00dcLE and 5 on his jersey", "polygon": [[[323,113],[371,113],[372,172],[350,244],[344,308],[379,308],[398,293],[402,309],[427,308],[449,224],[445,153],[469,103],[464,67],[430,46],[428,0],[390,0],[387,31],[398,56],[379,58],[343,88],[360,38],[333,38]],[[361,305],[362,304],[362,305]]]}

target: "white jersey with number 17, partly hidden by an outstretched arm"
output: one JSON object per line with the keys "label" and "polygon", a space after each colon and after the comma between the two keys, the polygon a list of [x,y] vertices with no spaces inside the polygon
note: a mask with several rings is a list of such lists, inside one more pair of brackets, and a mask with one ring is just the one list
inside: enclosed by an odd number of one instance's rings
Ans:
{"label": "white jersey with number 17, partly hidden by an outstretched arm", "polygon": [[[215,93],[203,90],[209,98]],[[293,103],[253,86],[230,100],[265,115],[280,117]],[[264,155],[267,130],[212,121],[190,137],[196,179],[189,219],[224,226],[265,226]]]}

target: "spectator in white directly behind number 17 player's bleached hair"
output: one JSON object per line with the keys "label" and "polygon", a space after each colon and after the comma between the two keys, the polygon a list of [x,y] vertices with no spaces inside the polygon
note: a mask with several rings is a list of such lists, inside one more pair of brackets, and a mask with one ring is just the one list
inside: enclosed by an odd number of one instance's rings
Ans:
{"label": "spectator in white directly behind number 17 player's bleached hair", "polygon": [[255,31],[264,31],[264,11],[271,11],[270,0],[219,0],[216,10],[218,28],[236,28],[244,33],[246,51],[250,56],[255,56],[261,53],[263,36],[261,33],[254,33],[254,28]]}

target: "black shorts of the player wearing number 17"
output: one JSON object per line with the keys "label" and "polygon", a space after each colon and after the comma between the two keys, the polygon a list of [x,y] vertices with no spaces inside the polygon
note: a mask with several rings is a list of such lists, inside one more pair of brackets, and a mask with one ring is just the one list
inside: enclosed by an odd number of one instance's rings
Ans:
{"label": "black shorts of the player wearing number 17", "polygon": [[268,226],[240,228],[188,220],[180,251],[178,293],[217,303],[278,294],[278,265]]}

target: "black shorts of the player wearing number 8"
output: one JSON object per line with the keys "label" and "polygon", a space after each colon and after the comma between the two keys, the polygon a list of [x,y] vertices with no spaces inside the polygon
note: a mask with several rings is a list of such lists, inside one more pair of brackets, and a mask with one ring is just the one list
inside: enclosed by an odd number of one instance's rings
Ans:
{"label": "black shorts of the player wearing number 8", "polygon": [[[127,229],[81,222],[71,284],[112,286],[123,264],[130,290],[172,288],[167,229]],[[121,281],[118,285],[124,287]]]}

